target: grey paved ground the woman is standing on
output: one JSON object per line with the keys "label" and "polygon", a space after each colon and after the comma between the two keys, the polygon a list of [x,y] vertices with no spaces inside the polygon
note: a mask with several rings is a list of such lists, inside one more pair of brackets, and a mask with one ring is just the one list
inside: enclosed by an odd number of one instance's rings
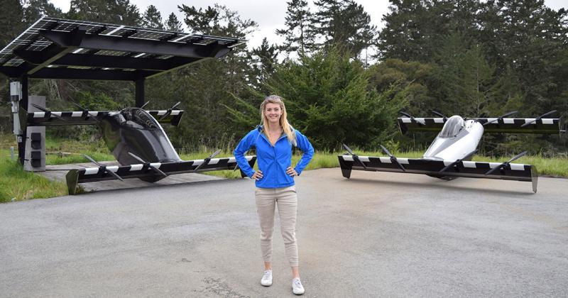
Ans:
{"label": "grey paved ground the woman is standing on", "polygon": [[[566,297],[567,189],[304,172],[305,296]],[[293,296],[279,235],[259,285],[258,233],[250,180],[0,204],[0,297]]]}

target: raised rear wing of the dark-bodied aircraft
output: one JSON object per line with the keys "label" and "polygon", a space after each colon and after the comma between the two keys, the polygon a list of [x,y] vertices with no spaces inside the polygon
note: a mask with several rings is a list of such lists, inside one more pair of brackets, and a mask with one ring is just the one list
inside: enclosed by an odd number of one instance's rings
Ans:
{"label": "raised rear wing of the dark-bodied aircraft", "polygon": [[[50,111],[50,112],[28,112],[28,126],[64,126],[64,125],[92,125],[97,124],[104,116],[118,113],[119,111]],[[172,111],[165,115],[167,110],[147,111],[159,123],[169,123],[178,126],[181,121],[183,110]]]}

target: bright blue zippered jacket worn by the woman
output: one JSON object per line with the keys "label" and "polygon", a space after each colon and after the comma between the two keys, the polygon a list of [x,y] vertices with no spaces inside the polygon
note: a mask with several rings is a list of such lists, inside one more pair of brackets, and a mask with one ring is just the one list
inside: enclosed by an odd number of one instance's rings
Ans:
{"label": "bright blue zippered jacket worn by the woman", "polygon": [[[254,147],[256,148],[258,170],[261,170],[263,174],[263,177],[256,181],[256,187],[280,188],[294,185],[294,178],[286,174],[286,168],[292,165],[292,144],[288,142],[288,137],[283,133],[276,143],[272,145],[261,131],[262,126],[257,126],[247,133],[239,142],[239,145],[236,146],[234,155],[239,167],[247,176],[252,177],[255,170],[246,161],[244,154]],[[314,148],[300,131],[294,131],[296,133],[296,147],[300,148],[303,153],[300,162],[294,167],[297,175],[300,175],[302,170],[312,160]]]}

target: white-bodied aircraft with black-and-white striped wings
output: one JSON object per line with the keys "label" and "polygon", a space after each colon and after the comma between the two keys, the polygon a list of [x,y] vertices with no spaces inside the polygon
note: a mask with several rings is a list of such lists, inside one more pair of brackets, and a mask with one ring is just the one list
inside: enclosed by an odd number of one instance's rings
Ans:
{"label": "white-bodied aircraft with black-and-white striped wings", "polygon": [[382,172],[406,172],[425,174],[443,180],[457,177],[519,180],[532,182],[537,192],[537,170],[534,165],[511,163],[527,152],[515,155],[506,162],[470,161],[483,133],[561,133],[560,118],[545,118],[550,111],[535,118],[506,118],[513,111],[496,118],[462,118],[446,116],[432,111],[439,118],[414,118],[401,112],[398,126],[404,134],[408,131],[439,131],[422,158],[396,158],[381,145],[388,157],[358,156],[346,145],[348,153],[339,155],[339,165],[344,177],[351,177],[351,170]]}

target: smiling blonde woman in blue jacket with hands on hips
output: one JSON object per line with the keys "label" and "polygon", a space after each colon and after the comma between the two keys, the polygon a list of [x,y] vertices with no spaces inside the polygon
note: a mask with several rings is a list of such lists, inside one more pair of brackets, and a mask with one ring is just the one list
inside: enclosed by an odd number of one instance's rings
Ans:
{"label": "smiling blonde woman in blue jacket with hands on hips", "polygon": [[[292,167],[292,147],[300,148],[302,159]],[[256,148],[258,171],[246,162],[244,154],[251,147]],[[304,294],[298,269],[295,236],[297,195],[294,176],[312,159],[314,148],[310,141],[296,131],[286,120],[286,108],[280,96],[267,96],[261,104],[261,125],[249,132],[234,150],[236,161],[246,175],[256,180],[256,209],[261,222],[261,250],[264,260],[264,275],[261,285],[272,285],[272,234],[274,209],[278,206],[280,231],[284,240],[286,256],[292,267],[292,290]]]}

